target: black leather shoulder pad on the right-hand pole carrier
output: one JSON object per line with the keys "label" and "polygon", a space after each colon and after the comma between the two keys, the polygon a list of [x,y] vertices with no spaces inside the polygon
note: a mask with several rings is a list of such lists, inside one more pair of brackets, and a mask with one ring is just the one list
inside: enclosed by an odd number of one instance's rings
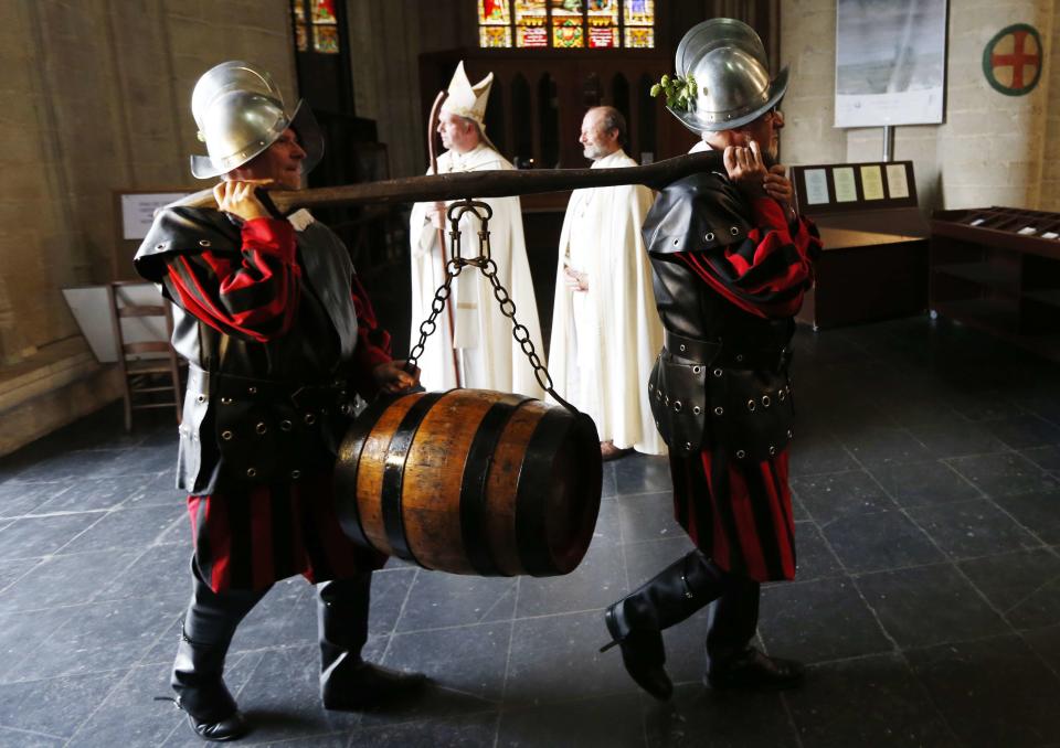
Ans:
{"label": "black leather shoulder pad on the right-hand pole carrier", "polygon": [[701,172],[659,193],[643,234],[649,253],[668,255],[739,244],[753,227],[751,206],[729,178]]}

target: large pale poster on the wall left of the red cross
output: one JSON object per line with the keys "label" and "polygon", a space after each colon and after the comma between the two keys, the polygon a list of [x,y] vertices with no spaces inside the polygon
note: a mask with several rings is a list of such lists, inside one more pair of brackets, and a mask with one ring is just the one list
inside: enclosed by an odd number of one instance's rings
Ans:
{"label": "large pale poster on the wall left of the red cross", "polygon": [[946,0],[838,0],[836,127],[937,125]]}

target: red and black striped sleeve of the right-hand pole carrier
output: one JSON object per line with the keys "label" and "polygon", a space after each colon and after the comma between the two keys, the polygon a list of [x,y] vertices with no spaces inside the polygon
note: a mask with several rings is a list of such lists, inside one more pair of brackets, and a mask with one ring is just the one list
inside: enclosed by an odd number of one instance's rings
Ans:
{"label": "red and black striped sleeve of the right-hand pole carrier", "polygon": [[781,205],[770,197],[753,201],[752,211],[754,227],[743,242],[676,257],[744,311],[768,319],[792,317],[813,285],[820,236],[808,218],[799,216],[788,225]]}

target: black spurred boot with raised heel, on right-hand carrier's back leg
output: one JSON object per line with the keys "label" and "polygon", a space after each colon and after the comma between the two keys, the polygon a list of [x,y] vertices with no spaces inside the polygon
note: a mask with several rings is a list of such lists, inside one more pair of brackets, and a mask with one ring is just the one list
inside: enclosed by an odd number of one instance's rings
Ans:
{"label": "black spurred boot with raised heel, on right-hand carrier's back leg", "polygon": [[717,598],[725,573],[699,551],[692,551],[604,611],[612,642],[622,650],[626,672],[660,701],[674,693],[666,673],[662,630],[680,623]]}

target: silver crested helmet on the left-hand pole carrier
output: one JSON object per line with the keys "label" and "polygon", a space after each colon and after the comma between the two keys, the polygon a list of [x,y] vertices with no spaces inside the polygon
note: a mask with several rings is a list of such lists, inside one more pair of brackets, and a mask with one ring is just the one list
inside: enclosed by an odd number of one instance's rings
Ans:
{"label": "silver crested helmet on the left-hand pole carrier", "polygon": [[232,60],[203,73],[191,95],[191,114],[199,126],[199,139],[210,153],[191,157],[191,173],[199,179],[242,167],[276,142],[288,127],[298,133],[306,151],[304,172],[324,156],[324,137],[306,103],[298,101],[288,117],[273,77],[251,63]]}

